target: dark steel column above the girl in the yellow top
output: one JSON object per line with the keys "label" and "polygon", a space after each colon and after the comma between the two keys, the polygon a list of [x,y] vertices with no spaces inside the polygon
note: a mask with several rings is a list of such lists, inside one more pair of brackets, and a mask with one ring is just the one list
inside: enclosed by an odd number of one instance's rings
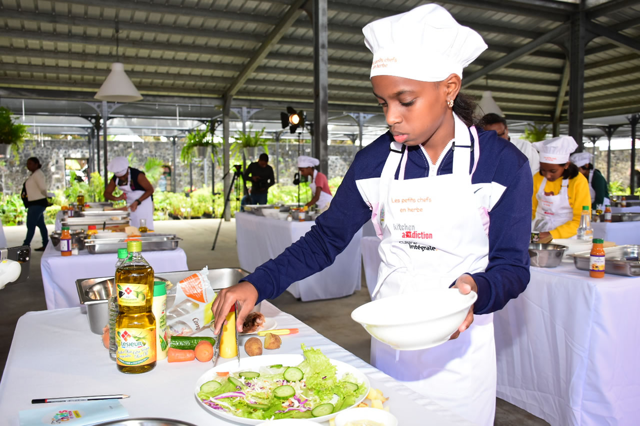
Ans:
{"label": "dark steel column above the girl in the yellow top", "polygon": [[584,116],[584,48],[587,42],[584,10],[573,13],[570,31],[569,69],[569,134],[578,143],[576,152],[582,152],[582,118]]}

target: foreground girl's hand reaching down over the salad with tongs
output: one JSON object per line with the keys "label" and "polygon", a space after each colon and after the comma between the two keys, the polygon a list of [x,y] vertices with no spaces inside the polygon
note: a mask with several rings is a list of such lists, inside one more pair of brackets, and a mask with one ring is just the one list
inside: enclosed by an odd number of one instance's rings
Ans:
{"label": "foreground girl's hand reaching down over the salad with tongs", "polygon": [[211,312],[215,318],[213,334],[216,336],[220,334],[220,329],[225,323],[227,313],[230,312],[236,302],[239,308],[237,312],[236,329],[238,333],[241,333],[244,319],[249,315],[257,300],[258,290],[256,290],[249,281],[242,281],[241,283],[220,290],[218,297],[216,297],[216,300],[214,300],[211,305]]}

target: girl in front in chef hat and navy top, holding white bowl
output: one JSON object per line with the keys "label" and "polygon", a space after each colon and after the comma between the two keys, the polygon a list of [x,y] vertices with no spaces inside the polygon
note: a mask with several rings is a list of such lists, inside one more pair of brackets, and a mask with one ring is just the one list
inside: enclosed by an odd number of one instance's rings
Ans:
{"label": "girl in front in chef hat and navy top, holding white bowl", "polygon": [[241,326],[253,304],[330,265],[372,220],[382,258],[374,297],[451,286],[478,296],[456,340],[421,351],[373,340],[372,364],[470,422],[493,425],[491,313],[529,282],[529,162],[495,132],[470,127],[474,106],[458,92],[463,68],[486,49],[475,31],[436,4],[363,31],[389,131],[358,152],[307,235],[220,292],[216,331],[234,302]]}

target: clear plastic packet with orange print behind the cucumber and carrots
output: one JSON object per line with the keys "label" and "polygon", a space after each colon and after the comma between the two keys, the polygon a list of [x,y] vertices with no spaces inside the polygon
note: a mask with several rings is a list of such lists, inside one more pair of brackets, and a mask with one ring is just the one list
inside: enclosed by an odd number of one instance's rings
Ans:
{"label": "clear plastic packet with orange print behind the cucumber and carrots", "polygon": [[211,305],[216,293],[205,266],[184,278],[167,292],[166,324],[172,336],[190,336],[206,328],[213,320]]}

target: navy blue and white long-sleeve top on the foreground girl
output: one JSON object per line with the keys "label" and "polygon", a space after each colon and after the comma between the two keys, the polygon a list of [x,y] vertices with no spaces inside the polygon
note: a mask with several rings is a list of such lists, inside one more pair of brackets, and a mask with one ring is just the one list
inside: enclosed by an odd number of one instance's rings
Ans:
{"label": "navy blue and white long-sleeve top on the foreground girl", "polygon": [[[392,141],[387,132],[358,152],[329,209],[317,217],[316,225],[281,255],[244,278],[257,289],[258,302],[280,296],[291,283],[331,265],[353,235],[371,220],[371,205],[378,202],[380,175]],[[430,167],[436,167],[438,175],[451,174],[453,150],[447,146],[445,151],[434,166],[421,146],[409,146],[404,178],[428,177]],[[478,287],[474,313],[482,314],[502,309],[529,283],[533,182],[527,157],[493,130],[479,132],[479,152],[472,185],[474,196],[489,212],[489,254],[486,269],[470,275]],[[470,171],[474,155],[472,152]],[[399,164],[396,179],[398,174]]]}

